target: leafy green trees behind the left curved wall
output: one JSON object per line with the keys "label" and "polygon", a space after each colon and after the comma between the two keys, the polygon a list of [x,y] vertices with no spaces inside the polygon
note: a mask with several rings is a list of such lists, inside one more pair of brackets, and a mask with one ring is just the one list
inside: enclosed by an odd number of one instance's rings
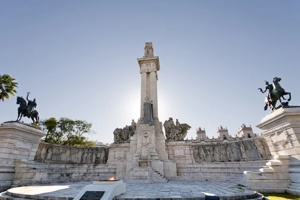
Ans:
{"label": "leafy green trees behind the left curved wall", "polygon": [[54,117],[43,119],[40,122],[46,137],[42,141],[68,146],[94,146],[83,134],[94,133],[91,123],[84,120],[72,120],[61,117],[58,121]]}

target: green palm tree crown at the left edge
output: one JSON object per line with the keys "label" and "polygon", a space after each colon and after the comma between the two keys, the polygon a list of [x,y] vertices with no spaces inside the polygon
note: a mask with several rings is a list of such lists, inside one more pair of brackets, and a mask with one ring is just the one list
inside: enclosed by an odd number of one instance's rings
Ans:
{"label": "green palm tree crown at the left edge", "polygon": [[16,93],[15,88],[18,87],[17,85],[18,83],[10,75],[3,74],[1,76],[0,74],[0,100],[4,101],[4,98],[9,99],[9,94],[14,96],[14,93]]}

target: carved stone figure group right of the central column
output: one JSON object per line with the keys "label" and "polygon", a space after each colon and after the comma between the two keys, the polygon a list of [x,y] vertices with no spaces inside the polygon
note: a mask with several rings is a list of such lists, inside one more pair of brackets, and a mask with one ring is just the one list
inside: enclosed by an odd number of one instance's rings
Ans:
{"label": "carved stone figure group right of the central column", "polygon": [[187,130],[190,129],[190,126],[186,123],[179,123],[176,119],[176,124],[173,121],[172,117],[169,117],[168,120],[163,123],[166,141],[180,141],[183,140],[187,134]]}

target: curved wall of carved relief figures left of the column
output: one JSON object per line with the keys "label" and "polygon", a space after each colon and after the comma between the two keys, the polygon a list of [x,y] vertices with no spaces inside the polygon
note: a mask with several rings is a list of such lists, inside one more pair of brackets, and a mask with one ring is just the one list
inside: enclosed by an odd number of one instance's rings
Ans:
{"label": "curved wall of carved relief figures left of the column", "polygon": [[103,164],[108,157],[107,147],[62,146],[40,142],[34,161],[43,163]]}

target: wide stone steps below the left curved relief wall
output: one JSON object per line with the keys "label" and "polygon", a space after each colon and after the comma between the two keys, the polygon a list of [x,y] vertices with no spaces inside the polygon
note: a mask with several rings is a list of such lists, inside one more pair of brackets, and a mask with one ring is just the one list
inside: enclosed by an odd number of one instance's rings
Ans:
{"label": "wide stone steps below the left curved relief wall", "polygon": [[15,172],[11,187],[52,182],[103,180],[115,176],[115,164],[49,164],[26,162]]}

